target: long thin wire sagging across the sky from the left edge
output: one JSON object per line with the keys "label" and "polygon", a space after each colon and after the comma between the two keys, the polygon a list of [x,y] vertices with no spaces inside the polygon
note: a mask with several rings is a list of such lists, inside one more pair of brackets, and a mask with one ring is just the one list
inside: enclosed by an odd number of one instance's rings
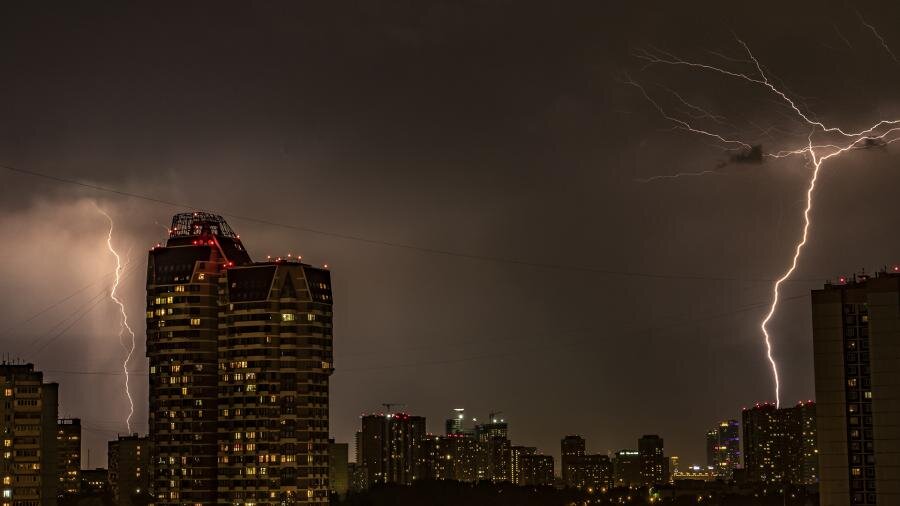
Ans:
{"label": "long thin wire sagging across the sky from the left edge", "polygon": [[[162,199],[159,197],[154,197],[152,195],[145,195],[125,190],[120,190],[118,188],[113,188],[109,186],[100,186],[93,183],[86,183],[83,181],[78,181],[76,179],[69,179],[59,176],[53,176],[50,174],[45,174],[42,172],[36,172],[27,169],[21,169],[18,167],[13,167],[10,165],[0,164],[0,168],[4,168],[10,172],[14,172],[17,174],[23,174],[31,177],[37,177],[46,179],[49,181],[55,181],[57,183],[70,184],[75,186],[80,186],[82,188],[88,188],[91,190],[96,190],[105,193],[112,193],[115,195],[120,195],[123,197],[135,198],[144,200],[147,202],[153,202],[156,204],[162,204],[170,207],[176,207],[179,209],[198,209],[204,210],[202,206],[193,206],[190,204],[175,202],[172,200]],[[208,209],[207,209],[208,210]],[[682,281],[743,281],[743,282],[759,282],[759,283],[771,283],[774,282],[775,279],[772,278],[737,278],[737,277],[728,277],[728,276],[704,276],[704,275],[694,275],[694,274],[670,274],[670,273],[661,273],[661,272],[646,272],[646,271],[637,271],[637,270],[617,270],[617,269],[602,269],[599,267],[591,267],[591,266],[583,266],[583,265],[572,265],[572,264],[560,264],[560,263],[552,263],[552,262],[533,262],[528,260],[521,260],[516,258],[507,258],[507,257],[499,257],[499,256],[491,256],[491,255],[480,255],[475,253],[462,253],[457,251],[443,250],[439,248],[431,248],[427,246],[418,246],[414,244],[406,244],[399,243],[393,241],[387,241],[382,239],[373,239],[370,237],[363,237],[352,234],[344,234],[339,232],[329,232],[327,230],[321,230],[316,228],[311,228],[302,225],[291,225],[288,223],[281,223],[273,220],[268,220],[264,218],[257,218],[248,215],[242,215],[237,213],[232,213],[226,210],[215,211],[218,214],[223,216],[233,218],[240,221],[246,221],[250,223],[257,223],[260,225],[267,225],[271,227],[285,228],[289,230],[295,230],[299,232],[306,232],[310,234],[316,234],[323,237],[331,237],[335,239],[341,239],[346,241],[355,241],[364,244],[371,244],[377,246],[384,246],[390,248],[398,248],[409,251],[416,251],[420,253],[427,253],[431,255],[439,255],[453,258],[464,258],[469,260],[479,260],[484,262],[492,262],[492,263],[500,263],[500,264],[509,264],[509,265],[518,265],[524,267],[535,267],[542,269],[552,269],[552,270],[563,270],[563,271],[573,271],[573,272],[585,272],[592,274],[603,274],[608,276],[623,276],[623,277],[634,277],[634,278],[646,278],[646,279],[668,279],[668,280],[682,280]],[[791,282],[817,282],[821,281],[821,279],[791,279]]]}

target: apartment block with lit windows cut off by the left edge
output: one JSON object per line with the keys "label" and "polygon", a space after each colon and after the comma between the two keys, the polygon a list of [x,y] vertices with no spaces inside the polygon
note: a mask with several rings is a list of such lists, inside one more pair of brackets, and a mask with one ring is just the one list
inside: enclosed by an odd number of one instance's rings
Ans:
{"label": "apartment block with lit windows cut off by the left edge", "polygon": [[4,506],[55,506],[59,385],[33,364],[0,364],[0,496]]}

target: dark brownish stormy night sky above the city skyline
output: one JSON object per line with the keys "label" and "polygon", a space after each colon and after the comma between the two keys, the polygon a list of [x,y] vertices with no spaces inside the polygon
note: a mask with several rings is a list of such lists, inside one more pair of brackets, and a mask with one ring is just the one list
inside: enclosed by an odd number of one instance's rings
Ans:
{"label": "dark brownish stormy night sky above the city skyline", "polygon": [[[390,402],[433,432],[452,408],[502,411],[514,444],[554,455],[570,433],[595,452],[658,433],[704,463],[709,426],[774,400],[758,325],[810,168],[730,162],[628,81],[766,152],[809,128],[759,86],[635,53],[753,72],[737,35],[811,115],[865,128],[900,117],[900,63],[863,20],[900,51],[900,4],[657,4],[7,3],[0,164],[215,210],[255,259],[327,263],[339,441]],[[772,324],[784,404],[813,396],[809,289],[900,262],[897,146],[822,170]],[[2,350],[60,383],[91,467],[128,412],[95,203],[133,269],[144,433],[147,249],[189,208],[0,169]]]}

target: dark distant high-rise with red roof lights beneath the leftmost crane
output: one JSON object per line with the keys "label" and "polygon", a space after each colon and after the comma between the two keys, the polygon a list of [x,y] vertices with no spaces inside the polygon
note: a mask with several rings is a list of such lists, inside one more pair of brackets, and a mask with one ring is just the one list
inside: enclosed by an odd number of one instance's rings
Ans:
{"label": "dark distant high-rise with red roof lights beneath the leftmost crane", "polygon": [[375,483],[409,485],[423,478],[425,418],[406,413],[362,417],[360,462]]}

